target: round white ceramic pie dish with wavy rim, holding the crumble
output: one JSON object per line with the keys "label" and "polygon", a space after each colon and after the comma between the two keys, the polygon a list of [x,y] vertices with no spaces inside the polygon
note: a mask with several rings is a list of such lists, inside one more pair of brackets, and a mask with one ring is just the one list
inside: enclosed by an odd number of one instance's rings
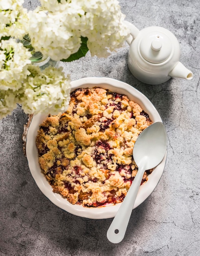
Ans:
{"label": "round white ceramic pie dish with wavy rim, holding the crumble", "polygon": [[[149,99],[147,99],[145,95],[127,83],[110,78],[90,77],[72,81],[71,85],[72,91],[78,88],[99,87],[108,89],[111,92],[125,94],[130,100],[138,103],[141,108],[149,114],[149,117],[153,122],[162,121],[158,111],[149,101]],[[53,202],[53,204],[73,215],[91,219],[105,219],[114,217],[121,203],[109,204],[103,207],[83,207],[82,205],[71,204],[60,194],[53,193],[51,185],[48,183],[46,177],[41,171],[40,164],[38,162],[38,151],[35,144],[35,138],[37,136],[39,125],[42,124],[46,117],[47,115],[44,114],[33,116],[26,137],[26,157],[28,159],[31,175],[33,176],[33,179],[35,180],[39,189],[49,200],[51,200],[51,202]],[[134,208],[140,205],[145,199],[147,199],[155,189],[160,180],[160,177],[163,174],[166,157],[167,153],[163,161],[158,166],[156,166],[154,171],[148,176],[147,182],[140,187]]]}

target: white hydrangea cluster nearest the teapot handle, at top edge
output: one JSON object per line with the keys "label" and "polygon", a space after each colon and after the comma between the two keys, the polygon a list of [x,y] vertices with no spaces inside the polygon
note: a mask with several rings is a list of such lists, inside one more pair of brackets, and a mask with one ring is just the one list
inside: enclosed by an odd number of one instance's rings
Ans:
{"label": "white hydrangea cluster nearest the teapot handle, at top edge", "polygon": [[[74,1],[73,1],[74,2]],[[88,49],[92,56],[107,57],[115,49],[122,47],[130,30],[123,23],[125,15],[121,13],[117,0],[75,0],[86,15],[82,23],[89,26],[82,32],[88,37]],[[75,4],[75,3],[74,3]]]}

